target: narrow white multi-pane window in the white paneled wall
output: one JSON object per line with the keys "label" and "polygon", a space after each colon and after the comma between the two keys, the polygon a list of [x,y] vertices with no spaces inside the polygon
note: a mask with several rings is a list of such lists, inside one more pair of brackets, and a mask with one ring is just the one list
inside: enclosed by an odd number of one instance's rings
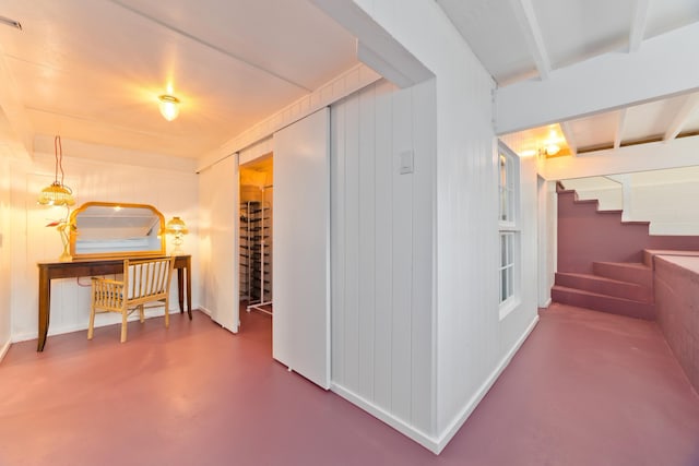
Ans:
{"label": "narrow white multi-pane window in the white paneled wall", "polygon": [[498,144],[499,191],[499,300],[500,316],[511,310],[519,287],[519,158],[503,144]]}

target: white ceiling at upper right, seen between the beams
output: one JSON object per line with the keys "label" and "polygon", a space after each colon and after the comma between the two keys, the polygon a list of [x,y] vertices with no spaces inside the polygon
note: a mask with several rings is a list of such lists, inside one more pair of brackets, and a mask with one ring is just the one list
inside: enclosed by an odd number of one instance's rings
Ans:
{"label": "white ceiling at upper right, seen between the beams", "polygon": [[[524,80],[554,80],[556,71],[604,53],[637,53],[645,40],[699,22],[699,0],[437,0],[437,3],[499,86]],[[699,44],[685,47],[696,51]],[[541,147],[553,129],[561,141],[566,136],[564,147],[570,145],[570,152],[583,153],[697,134],[698,96],[687,93],[662,98],[573,119],[562,126],[535,128],[518,136],[531,140],[532,148]]]}

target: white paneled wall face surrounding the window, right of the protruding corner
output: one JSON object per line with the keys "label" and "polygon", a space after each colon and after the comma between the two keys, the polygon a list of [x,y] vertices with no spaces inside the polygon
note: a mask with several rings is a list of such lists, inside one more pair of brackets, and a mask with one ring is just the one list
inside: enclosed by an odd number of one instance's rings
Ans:
{"label": "white paneled wall face surrounding the window, right of the protruding corner", "polygon": [[[533,327],[536,301],[530,300],[536,294],[528,295],[528,300],[499,320],[491,77],[436,2],[355,0],[355,4],[436,75],[437,211],[431,328],[436,344],[436,409],[434,444],[429,447],[439,452]],[[358,39],[362,41],[362,36]],[[533,186],[535,193],[535,177]],[[535,225],[535,195],[532,211],[525,212],[533,216]],[[534,240],[534,250],[535,247]],[[535,290],[536,275],[523,277],[522,288]]]}

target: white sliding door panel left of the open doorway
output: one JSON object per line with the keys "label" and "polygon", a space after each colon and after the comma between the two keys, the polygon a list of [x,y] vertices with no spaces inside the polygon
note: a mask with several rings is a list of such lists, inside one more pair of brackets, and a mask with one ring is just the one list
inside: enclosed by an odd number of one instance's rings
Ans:
{"label": "white sliding door panel left of the open doorway", "polygon": [[[203,170],[200,202],[203,211],[202,243],[204,308],[224,328],[238,332],[238,156],[227,157]],[[208,250],[208,251],[206,251]]]}

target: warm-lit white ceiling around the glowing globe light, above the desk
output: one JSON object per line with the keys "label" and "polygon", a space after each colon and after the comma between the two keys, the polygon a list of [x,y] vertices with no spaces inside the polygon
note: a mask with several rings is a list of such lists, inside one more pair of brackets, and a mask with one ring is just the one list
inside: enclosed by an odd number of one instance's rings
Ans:
{"label": "warm-lit white ceiling around the glowing globe light, above the desk", "polygon": [[[0,81],[35,134],[183,157],[357,63],[354,38],[306,0],[3,0],[0,16],[23,27],[0,25]],[[173,122],[157,107],[168,86]]]}

